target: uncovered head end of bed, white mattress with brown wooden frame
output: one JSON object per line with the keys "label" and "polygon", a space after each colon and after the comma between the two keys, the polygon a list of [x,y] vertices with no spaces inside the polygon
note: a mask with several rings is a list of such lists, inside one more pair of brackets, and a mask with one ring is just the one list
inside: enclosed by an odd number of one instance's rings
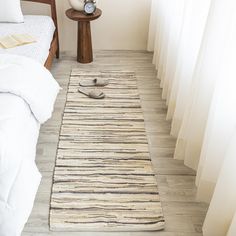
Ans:
{"label": "uncovered head end of bed, white mattress with brown wooden frame", "polygon": [[25,15],[24,23],[0,23],[0,36],[28,33],[37,39],[36,43],[11,49],[0,49],[0,54],[10,53],[35,59],[47,69],[51,68],[53,58],[59,58],[59,39],[55,0],[24,0],[49,4],[51,17]]}

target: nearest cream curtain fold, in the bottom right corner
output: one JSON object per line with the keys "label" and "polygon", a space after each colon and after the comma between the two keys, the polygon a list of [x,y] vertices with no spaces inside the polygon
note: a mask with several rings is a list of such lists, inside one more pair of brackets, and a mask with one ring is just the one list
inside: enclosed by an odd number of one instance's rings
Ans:
{"label": "nearest cream curtain fold, in the bottom right corner", "polygon": [[230,228],[233,230],[235,227],[232,224],[235,223],[236,212],[236,171],[235,165],[232,165],[236,154],[236,132],[234,133],[203,225],[203,235],[223,236],[227,235]]}

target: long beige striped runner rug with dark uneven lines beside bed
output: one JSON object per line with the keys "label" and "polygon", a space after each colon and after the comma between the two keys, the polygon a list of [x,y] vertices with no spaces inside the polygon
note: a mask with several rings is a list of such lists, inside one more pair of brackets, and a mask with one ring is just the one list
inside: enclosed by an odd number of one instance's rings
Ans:
{"label": "long beige striped runner rug with dark uneven lines beside bed", "polygon": [[[104,100],[78,93],[81,79],[109,78]],[[58,144],[50,228],[150,231],[164,228],[133,72],[74,69]]]}

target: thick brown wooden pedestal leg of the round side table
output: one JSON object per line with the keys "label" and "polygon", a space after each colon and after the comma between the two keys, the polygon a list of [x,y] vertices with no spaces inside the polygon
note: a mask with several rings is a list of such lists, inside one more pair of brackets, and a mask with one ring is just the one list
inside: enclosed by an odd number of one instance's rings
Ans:
{"label": "thick brown wooden pedestal leg of the round side table", "polygon": [[78,22],[78,51],[77,61],[90,63],[93,61],[93,49],[90,22]]}

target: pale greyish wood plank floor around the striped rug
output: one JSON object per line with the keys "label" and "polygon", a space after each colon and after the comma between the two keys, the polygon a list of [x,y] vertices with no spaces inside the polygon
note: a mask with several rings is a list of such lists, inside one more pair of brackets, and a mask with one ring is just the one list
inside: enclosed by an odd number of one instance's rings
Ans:
{"label": "pale greyish wood plank floor around the striped rug", "polygon": [[[169,135],[170,122],[166,121],[167,108],[161,99],[160,83],[152,65],[152,54],[140,51],[97,51],[94,62],[78,64],[75,56],[64,54],[54,62],[52,73],[63,90],[58,96],[55,112],[50,121],[42,126],[37,165],[43,175],[34,209],[25,226],[23,236],[201,236],[201,226],[207,205],[195,201],[195,172],[182,161],[174,160],[175,139]],[[157,175],[166,228],[160,232],[50,232],[48,213],[52,174],[66,89],[72,67],[91,70],[121,69],[135,71],[145,117],[145,125],[151,158]]]}

